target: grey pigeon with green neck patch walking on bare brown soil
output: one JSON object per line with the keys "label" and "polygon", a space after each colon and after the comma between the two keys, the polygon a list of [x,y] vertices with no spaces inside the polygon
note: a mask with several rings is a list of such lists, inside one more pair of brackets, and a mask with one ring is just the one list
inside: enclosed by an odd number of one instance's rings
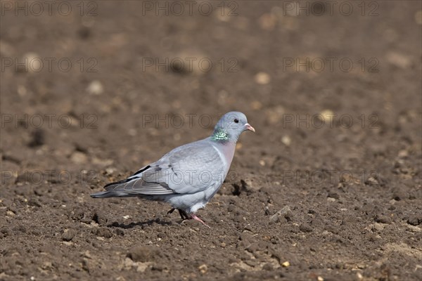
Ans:
{"label": "grey pigeon with green neck patch walking on bare brown soil", "polygon": [[[182,220],[194,219],[222,186],[233,160],[236,142],[243,131],[253,131],[242,112],[226,113],[212,135],[203,140],[181,145],[157,162],[144,166],[133,176],[109,183],[106,191],[93,198],[141,197],[170,203]],[[209,227],[209,226],[208,226]]]}

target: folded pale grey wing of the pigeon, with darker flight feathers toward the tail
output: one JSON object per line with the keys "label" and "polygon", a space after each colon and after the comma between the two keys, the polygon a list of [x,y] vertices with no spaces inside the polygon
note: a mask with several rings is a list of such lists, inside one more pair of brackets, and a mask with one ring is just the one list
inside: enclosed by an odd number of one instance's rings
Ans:
{"label": "folded pale grey wing of the pigeon, with darker flight feathers toward the tail", "polygon": [[139,169],[133,176],[105,186],[130,195],[196,193],[222,183],[226,162],[207,141],[175,148],[160,160]]}

